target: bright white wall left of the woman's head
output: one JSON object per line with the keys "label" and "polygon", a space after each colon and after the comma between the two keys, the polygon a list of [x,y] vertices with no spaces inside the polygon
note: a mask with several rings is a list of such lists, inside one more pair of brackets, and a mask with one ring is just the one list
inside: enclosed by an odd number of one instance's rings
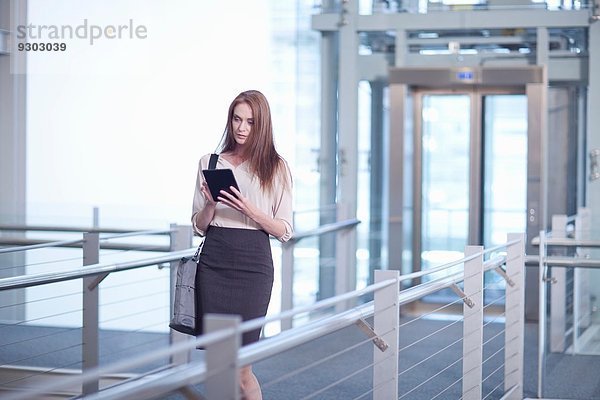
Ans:
{"label": "bright white wall left of the woman's head", "polygon": [[30,53],[28,220],[86,223],[99,206],[102,226],[188,223],[198,158],[229,102],[249,88],[269,97],[267,3],[30,0],[35,25],[132,20],[147,38]]}

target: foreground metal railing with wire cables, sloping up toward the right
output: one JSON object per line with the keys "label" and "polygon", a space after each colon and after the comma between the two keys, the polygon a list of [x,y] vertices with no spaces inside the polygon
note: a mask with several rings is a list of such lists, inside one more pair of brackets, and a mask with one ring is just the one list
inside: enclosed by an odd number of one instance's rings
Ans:
{"label": "foreground metal railing with wire cables, sloping up toward the right", "polygon": [[[499,249],[506,249],[506,255],[484,261],[486,255],[496,253]],[[163,357],[174,358],[178,355],[187,354],[197,346],[202,346],[206,349],[205,360],[180,364],[156,373],[138,375],[118,385],[98,391],[95,394],[88,394],[86,398],[157,398],[174,391],[182,391],[189,398],[200,399],[204,398],[205,395],[208,399],[237,399],[239,398],[237,381],[237,368],[239,366],[265,360],[281,354],[283,351],[337,332],[340,329],[358,325],[366,333],[366,336],[360,339],[358,343],[327,356],[323,355],[320,351],[319,354],[321,356],[318,360],[297,370],[287,372],[275,379],[275,381],[281,382],[292,377],[296,379],[297,374],[303,371],[314,370],[318,367],[322,368],[326,361],[339,357],[341,353],[347,354],[350,352],[354,354],[357,346],[366,345],[372,348],[372,354],[369,356],[370,360],[359,359],[354,361],[356,364],[366,362],[366,366],[362,366],[356,371],[348,373],[340,379],[314,390],[304,398],[315,398],[321,393],[337,388],[338,385],[342,385],[349,379],[354,379],[359,373],[370,371],[370,387],[363,388],[365,391],[355,398],[358,399],[370,395],[375,400],[401,399],[410,396],[414,391],[423,390],[423,385],[431,384],[436,378],[447,374],[449,371],[454,371],[458,374],[458,379],[452,385],[445,387],[435,396],[429,398],[439,398],[441,396],[443,398],[454,398],[449,389],[457,386],[458,383],[462,383],[460,393],[456,394],[456,398],[489,398],[496,392],[501,391],[503,393],[502,398],[522,399],[524,249],[524,235],[511,234],[505,245],[493,249],[484,250],[481,246],[467,246],[463,259],[434,270],[439,271],[457,265],[464,265],[464,268],[460,272],[453,273],[444,278],[431,280],[406,290],[399,291],[400,282],[414,278],[414,274],[399,276],[398,271],[377,271],[375,284],[365,289],[338,295],[311,306],[283,311],[277,315],[246,322],[241,322],[236,316],[209,315],[206,317],[206,326],[209,332],[198,338],[175,343],[169,347],[152,351],[118,364],[94,368],[85,372],[82,376],[65,378],[59,382],[47,385],[44,389],[28,391],[26,393],[15,393],[13,396],[7,398],[30,399],[34,396],[42,395],[44,392],[59,391],[73,385],[83,384],[85,387],[90,383],[97,382],[106,374],[132,370],[140,365]],[[502,268],[503,265],[505,265],[505,268]],[[503,321],[503,329],[495,333],[492,337],[485,339],[485,329],[492,324],[492,322],[484,320],[485,307],[483,305],[483,294],[486,288],[484,286],[483,274],[488,270],[494,270],[499,273],[506,280],[507,289],[504,315],[501,318],[496,317],[495,321],[493,321],[494,323],[501,323]],[[429,273],[432,272],[423,271],[418,274],[426,275]],[[459,286],[461,282],[462,287]],[[457,293],[459,301],[464,302],[462,317],[463,331],[457,334],[458,337],[456,339],[452,337],[453,342],[445,346],[445,348],[435,351],[425,359],[400,370],[400,361],[411,358],[409,355],[406,355],[407,351],[415,348],[414,346],[418,346],[419,343],[433,335],[440,335],[443,330],[448,328],[446,326],[425,336],[419,331],[418,334],[421,337],[418,340],[401,348],[401,337],[412,331],[407,326],[418,320],[411,319],[401,324],[400,307],[444,288],[452,288]],[[335,315],[322,317],[303,326],[293,327],[277,336],[240,348],[240,338],[243,332],[264,326],[268,322],[282,321],[301,313],[326,309],[336,304],[347,302],[350,299],[358,299],[369,293],[373,294],[373,301]],[[372,319],[372,325],[368,322],[369,319]],[[404,332],[404,334],[401,336],[400,332]],[[443,336],[451,336],[449,332],[449,330],[446,330],[443,332]],[[484,347],[501,339],[502,336],[504,336],[504,340],[499,349],[492,355],[484,358]],[[458,360],[436,372],[431,377],[420,379],[421,383],[413,388],[405,387],[403,379],[407,379],[406,374],[418,369],[428,360],[438,360],[441,352],[460,343],[462,343],[462,351],[459,351],[461,355]],[[324,351],[324,349],[322,350]],[[496,366],[494,364],[493,371],[484,376],[483,371],[486,365],[490,360],[493,361],[494,358],[498,357],[501,358],[500,365]],[[494,377],[499,372],[502,373],[500,382],[491,390],[484,392],[484,386],[494,380]],[[194,385],[201,382],[204,383],[204,394],[201,394],[194,387]],[[264,386],[269,386],[271,383],[267,382]],[[402,393],[399,393],[399,388],[402,388]]]}

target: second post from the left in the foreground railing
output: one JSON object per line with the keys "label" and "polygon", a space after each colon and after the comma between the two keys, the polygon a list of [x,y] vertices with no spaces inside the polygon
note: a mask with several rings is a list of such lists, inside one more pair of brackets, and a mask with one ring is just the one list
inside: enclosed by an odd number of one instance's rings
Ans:
{"label": "second post from the left in the foreground railing", "polygon": [[374,294],[374,330],[388,345],[385,351],[373,346],[373,400],[398,398],[398,340],[400,309],[399,271],[375,271],[375,282],[395,279],[396,284],[386,286]]}

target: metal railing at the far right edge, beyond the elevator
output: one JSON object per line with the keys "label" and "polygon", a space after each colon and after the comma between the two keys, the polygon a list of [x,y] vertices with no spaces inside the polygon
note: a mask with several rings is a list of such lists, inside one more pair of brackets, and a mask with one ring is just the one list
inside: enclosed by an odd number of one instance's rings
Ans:
{"label": "metal railing at the far right edge, beyond the elevator", "polygon": [[549,394],[545,393],[548,355],[585,354],[582,337],[595,332],[590,280],[600,259],[591,257],[591,250],[600,248],[600,241],[591,235],[591,211],[580,208],[574,216],[553,216],[551,231],[540,231],[533,241],[540,254],[538,397]]}

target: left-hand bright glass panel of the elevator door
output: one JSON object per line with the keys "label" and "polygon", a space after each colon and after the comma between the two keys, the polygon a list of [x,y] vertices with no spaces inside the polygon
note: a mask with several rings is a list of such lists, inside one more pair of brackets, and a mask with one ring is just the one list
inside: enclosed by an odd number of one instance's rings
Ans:
{"label": "left-hand bright glass panel of the elevator door", "polygon": [[470,102],[466,94],[423,96],[423,269],[460,259],[467,244]]}

